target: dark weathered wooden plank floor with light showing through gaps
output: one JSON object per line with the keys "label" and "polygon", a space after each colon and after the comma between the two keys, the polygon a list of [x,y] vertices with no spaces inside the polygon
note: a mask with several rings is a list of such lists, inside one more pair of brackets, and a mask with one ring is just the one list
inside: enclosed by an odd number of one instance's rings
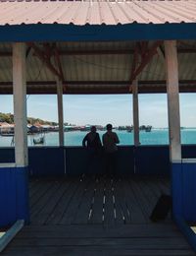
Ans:
{"label": "dark weathered wooden plank floor with light showing through gaps", "polygon": [[4,255],[195,255],[171,217],[149,216],[162,178],[76,178],[30,182],[31,223]]}

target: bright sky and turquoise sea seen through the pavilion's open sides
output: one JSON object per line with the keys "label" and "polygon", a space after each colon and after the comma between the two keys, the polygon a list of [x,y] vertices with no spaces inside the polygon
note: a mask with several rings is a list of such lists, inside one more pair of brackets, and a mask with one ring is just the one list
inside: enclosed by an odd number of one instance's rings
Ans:
{"label": "bright sky and turquoise sea seen through the pavilion's open sides", "polygon": [[[26,96],[27,116],[50,120],[58,126],[56,96]],[[13,96],[1,96],[2,113],[13,113]],[[130,95],[64,96],[65,146],[82,146],[87,130],[72,130],[69,127],[97,125],[100,137],[104,127],[112,123],[120,138],[121,145],[133,145],[132,97]],[[187,104],[187,102],[189,102]],[[180,94],[181,143],[196,144],[195,94]],[[152,126],[150,132],[140,130],[140,145],[169,145],[167,95],[139,95],[139,124]],[[11,122],[12,123],[12,122]],[[39,122],[36,121],[35,125]],[[34,125],[31,123],[30,125]],[[124,129],[121,129],[123,127]],[[126,128],[125,128],[126,127]],[[28,134],[28,146],[59,146],[59,132],[45,131],[44,144],[33,143],[39,133]],[[0,147],[14,147],[13,136],[0,135]]]}

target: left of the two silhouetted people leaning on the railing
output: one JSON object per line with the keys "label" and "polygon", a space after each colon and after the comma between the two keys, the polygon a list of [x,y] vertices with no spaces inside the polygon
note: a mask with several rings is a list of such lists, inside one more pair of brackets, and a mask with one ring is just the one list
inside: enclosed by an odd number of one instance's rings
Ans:
{"label": "left of the two silhouetted people leaning on the railing", "polygon": [[91,126],[90,132],[83,138],[82,146],[87,149],[87,170],[86,174],[95,174],[93,171],[96,168],[98,160],[100,159],[102,144],[97,133],[96,126]]}

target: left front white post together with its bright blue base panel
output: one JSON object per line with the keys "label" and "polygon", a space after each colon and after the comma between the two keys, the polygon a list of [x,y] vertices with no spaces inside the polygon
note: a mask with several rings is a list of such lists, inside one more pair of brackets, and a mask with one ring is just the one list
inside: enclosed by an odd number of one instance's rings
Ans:
{"label": "left front white post together with its bright blue base panel", "polygon": [[13,44],[15,163],[0,166],[0,226],[29,222],[25,43]]}

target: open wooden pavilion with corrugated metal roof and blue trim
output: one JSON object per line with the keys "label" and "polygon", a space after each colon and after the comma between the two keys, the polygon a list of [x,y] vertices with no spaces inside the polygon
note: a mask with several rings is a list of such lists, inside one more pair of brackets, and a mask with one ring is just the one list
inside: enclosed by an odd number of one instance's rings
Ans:
{"label": "open wooden pavilion with corrugated metal roof and blue trim", "polygon": [[[196,92],[195,1],[2,0],[0,7],[0,94],[14,95],[16,124],[15,152],[1,149],[0,226],[29,224],[5,254],[194,255],[176,225],[195,250],[189,223],[196,222],[196,161],[191,147],[182,152],[178,96]],[[160,177],[28,184],[29,173],[72,176],[82,168],[81,149],[64,147],[63,94],[133,96],[134,146],[122,150],[121,167],[141,174],[147,166],[140,163],[138,93],[168,94],[170,157],[163,160],[161,148],[158,158],[146,152],[153,174],[163,166],[171,174],[176,225],[149,223],[170,186]],[[45,149],[48,166],[35,158],[43,159],[41,149],[27,149],[26,94],[58,96],[60,147]]]}

